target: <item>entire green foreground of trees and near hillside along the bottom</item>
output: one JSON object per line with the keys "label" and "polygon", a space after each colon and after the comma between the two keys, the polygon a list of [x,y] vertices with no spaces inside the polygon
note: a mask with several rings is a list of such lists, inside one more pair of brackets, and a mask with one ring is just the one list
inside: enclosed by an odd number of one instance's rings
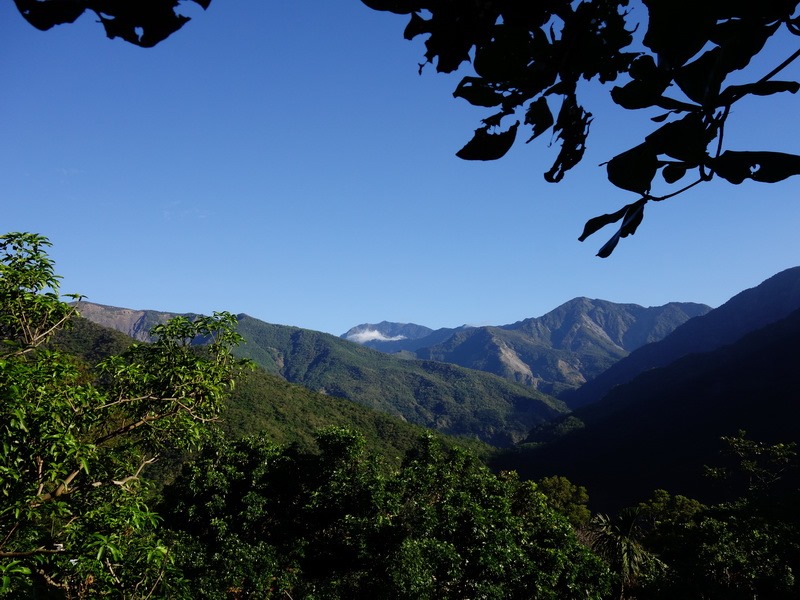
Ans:
{"label": "entire green foreground of trees and near hillside along the bottom", "polygon": [[239,371],[232,315],[145,344],[74,319],[48,245],[0,237],[0,597],[800,594],[794,443],[726,436],[719,500],[658,490],[592,515],[561,475],[493,473],[458,441]]}

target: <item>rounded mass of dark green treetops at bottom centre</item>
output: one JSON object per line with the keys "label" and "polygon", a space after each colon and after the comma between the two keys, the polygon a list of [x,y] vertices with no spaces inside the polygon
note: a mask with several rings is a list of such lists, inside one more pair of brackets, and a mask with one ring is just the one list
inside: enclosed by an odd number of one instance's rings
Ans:
{"label": "rounded mass of dark green treetops at bottom centre", "polygon": [[330,428],[318,451],[219,440],[166,490],[195,597],[601,598],[608,572],[535,486],[422,437],[399,470]]}

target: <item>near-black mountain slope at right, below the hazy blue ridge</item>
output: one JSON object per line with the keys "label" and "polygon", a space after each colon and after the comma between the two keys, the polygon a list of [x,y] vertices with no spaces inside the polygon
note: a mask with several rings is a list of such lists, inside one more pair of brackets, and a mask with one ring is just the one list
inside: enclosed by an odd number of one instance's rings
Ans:
{"label": "near-black mountain slope at right, below the hazy blue ridge", "polygon": [[566,435],[523,446],[497,466],[565,475],[602,510],[656,488],[713,498],[703,465],[718,460],[721,436],[743,429],[756,440],[800,442],[798,347],[800,310],[732,345],[640,374],[576,410]]}

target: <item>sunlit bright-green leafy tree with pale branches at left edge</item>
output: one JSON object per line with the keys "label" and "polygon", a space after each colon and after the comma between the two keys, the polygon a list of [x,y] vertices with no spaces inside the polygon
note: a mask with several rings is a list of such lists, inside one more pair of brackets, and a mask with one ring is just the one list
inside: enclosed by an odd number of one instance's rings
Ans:
{"label": "sunlit bright-green leafy tree with pale branches at left edge", "polygon": [[175,319],[91,369],[46,345],[76,314],[49,245],[0,237],[0,595],[170,595],[143,474],[159,452],[197,444],[221,409],[235,317]]}

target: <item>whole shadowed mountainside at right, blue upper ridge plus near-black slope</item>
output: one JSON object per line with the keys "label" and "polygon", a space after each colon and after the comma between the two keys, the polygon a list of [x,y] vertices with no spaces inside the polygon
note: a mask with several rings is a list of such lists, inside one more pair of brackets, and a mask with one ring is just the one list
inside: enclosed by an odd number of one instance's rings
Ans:
{"label": "whole shadowed mountainside at right, blue upper ridge plus near-black slope", "polygon": [[[568,417],[536,428],[497,468],[564,475],[595,506],[640,501],[656,487],[692,497],[722,436],[800,443],[800,268],[745,290],[661,342],[644,346],[568,396]],[[577,400],[576,400],[577,399]]]}

